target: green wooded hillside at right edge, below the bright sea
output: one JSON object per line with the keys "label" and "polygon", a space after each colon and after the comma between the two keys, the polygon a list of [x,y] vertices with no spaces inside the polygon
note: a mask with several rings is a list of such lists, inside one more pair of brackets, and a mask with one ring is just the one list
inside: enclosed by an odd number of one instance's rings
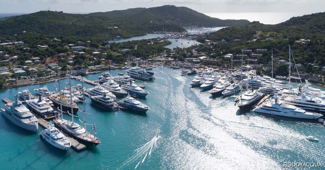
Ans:
{"label": "green wooded hillside at right edge, below the bright sea", "polygon": [[[257,33],[259,33],[258,36]],[[325,37],[325,12],[292,17],[275,25],[261,24],[254,21],[239,28],[223,28],[211,33],[207,38],[210,40],[224,39],[231,41],[241,39],[247,41],[254,38],[299,39],[315,36]]]}

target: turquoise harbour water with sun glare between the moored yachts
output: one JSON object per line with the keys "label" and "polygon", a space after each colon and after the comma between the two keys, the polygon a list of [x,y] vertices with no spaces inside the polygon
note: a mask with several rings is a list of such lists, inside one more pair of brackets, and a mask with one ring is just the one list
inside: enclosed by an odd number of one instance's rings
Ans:
{"label": "turquoise harbour water with sun glare between the moored yachts", "polygon": [[[320,123],[241,113],[234,105],[234,97],[212,98],[209,92],[190,88],[188,83],[194,76],[181,76],[180,70],[166,67],[152,71],[155,80],[137,81],[150,92],[139,99],[150,107],[147,114],[108,112],[86,104],[86,111],[91,113],[87,121],[96,123],[102,143],[81,152],[62,152],[41,140],[38,133],[18,128],[1,115],[1,169],[279,170],[284,169],[283,162],[324,165],[325,137]],[[123,70],[109,72],[115,76]],[[95,80],[98,75],[85,77]],[[46,85],[55,90],[54,83]],[[4,89],[0,94],[1,98],[13,100],[13,95],[24,88],[35,94],[33,89],[42,86]],[[321,141],[307,141],[308,135]]]}

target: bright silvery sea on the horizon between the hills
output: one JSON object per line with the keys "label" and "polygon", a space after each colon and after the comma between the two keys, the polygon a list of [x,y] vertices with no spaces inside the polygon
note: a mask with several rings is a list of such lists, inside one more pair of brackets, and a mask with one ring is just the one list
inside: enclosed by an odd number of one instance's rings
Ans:
{"label": "bright silvery sea on the horizon between the hills", "polygon": [[251,22],[259,21],[263,24],[278,24],[292,17],[303,16],[303,12],[238,12],[238,13],[204,13],[219,19],[247,19]]}

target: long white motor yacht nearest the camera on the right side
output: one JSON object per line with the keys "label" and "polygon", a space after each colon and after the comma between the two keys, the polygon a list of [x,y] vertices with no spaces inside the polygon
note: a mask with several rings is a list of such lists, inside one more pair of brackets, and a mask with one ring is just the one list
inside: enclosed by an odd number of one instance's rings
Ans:
{"label": "long white motor yacht nearest the camera on the right side", "polygon": [[298,108],[296,106],[279,102],[276,96],[275,100],[269,100],[267,102],[262,103],[261,105],[253,109],[253,112],[302,119],[317,119],[323,116],[322,114],[306,112],[304,109]]}

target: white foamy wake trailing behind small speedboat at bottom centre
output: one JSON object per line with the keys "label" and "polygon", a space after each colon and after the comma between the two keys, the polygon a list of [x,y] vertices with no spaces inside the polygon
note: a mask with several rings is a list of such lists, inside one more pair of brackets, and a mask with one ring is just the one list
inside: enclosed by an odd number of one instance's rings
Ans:
{"label": "white foamy wake trailing behind small speedboat at bottom centre", "polygon": [[134,168],[134,169],[136,169],[139,164],[142,164],[146,160],[147,156],[151,155],[152,148],[156,144],[156,142],[159,138],[160,138],[160,136],[157,135],[157,136],[153,137],[149,142],[147,142],[140,148],[136,149],[134,151],[134,154],[130,158],[125,160],[123,162],[123,164],[116,170],[123,169],[124,167],[126,167],[134,162],[137,162],[137,164]]}

